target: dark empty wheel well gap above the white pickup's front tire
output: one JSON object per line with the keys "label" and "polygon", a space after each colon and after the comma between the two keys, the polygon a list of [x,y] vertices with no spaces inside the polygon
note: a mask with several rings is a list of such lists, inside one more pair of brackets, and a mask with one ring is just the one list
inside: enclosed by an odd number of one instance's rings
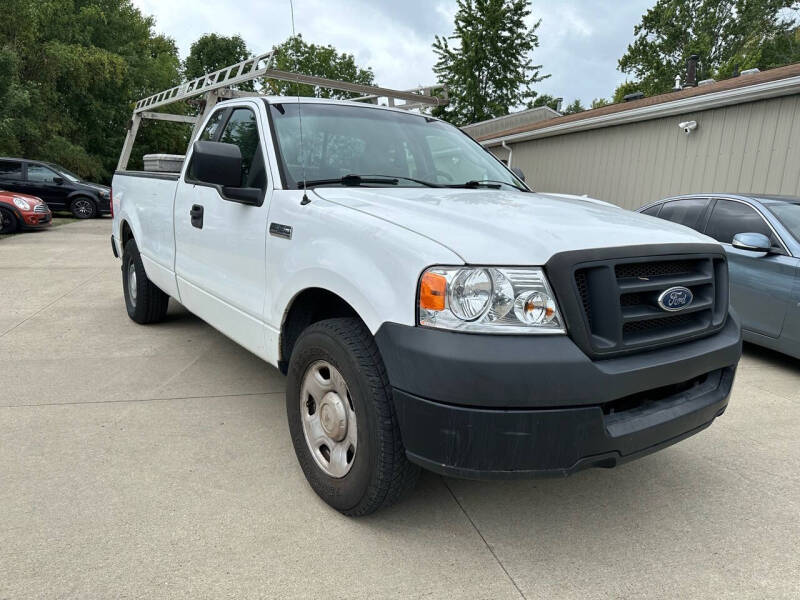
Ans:
{"label": "dark empty wheel well gap above the white pickup's front tire", "polygon": [[295,296],[281,328],[281,360],[278,361],[278,367],[284,375],[289,368],[294,345],[303,330],[318,321],[336,317],[360,319],[352,306],[328,290],[308,288]]}

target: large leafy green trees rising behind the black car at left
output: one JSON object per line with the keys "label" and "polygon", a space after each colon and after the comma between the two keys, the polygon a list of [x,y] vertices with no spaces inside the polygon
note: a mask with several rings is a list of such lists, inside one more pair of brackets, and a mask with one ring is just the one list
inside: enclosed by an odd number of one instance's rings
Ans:
{"label": "large leafy green trees rising behind the black car at left", "polygon": [[[175,44],[156,35],[152,18],[130,0],[6,0],[0,154],[107,181],[132,102],[176,85],[178,67]],[[177,143],[169,129],[149,135],[144,141],[160,151]]]}

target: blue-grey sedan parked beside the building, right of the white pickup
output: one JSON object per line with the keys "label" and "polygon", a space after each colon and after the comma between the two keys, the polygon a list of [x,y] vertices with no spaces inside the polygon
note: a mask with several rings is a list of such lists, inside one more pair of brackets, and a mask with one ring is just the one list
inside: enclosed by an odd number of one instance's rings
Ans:
{"label": "blue-grey sedan parked beside the building, right of the white pickup", "polygon": [[639,212],[721,242],[744,339],[800,358],[800,198],[692,194]]}

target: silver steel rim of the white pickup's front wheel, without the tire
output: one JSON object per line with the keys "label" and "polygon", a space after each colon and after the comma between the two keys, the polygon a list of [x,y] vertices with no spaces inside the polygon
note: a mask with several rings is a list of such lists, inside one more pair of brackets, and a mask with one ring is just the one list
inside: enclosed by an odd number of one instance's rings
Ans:
{"label": "silver steel rim of the white pickup's front wheel, without the tire", "polygon": [[308,449],[331,477],[344,477],[353,466],[358,426],[344,377],[327,361],[313,363],[303,377],[300,417]]}

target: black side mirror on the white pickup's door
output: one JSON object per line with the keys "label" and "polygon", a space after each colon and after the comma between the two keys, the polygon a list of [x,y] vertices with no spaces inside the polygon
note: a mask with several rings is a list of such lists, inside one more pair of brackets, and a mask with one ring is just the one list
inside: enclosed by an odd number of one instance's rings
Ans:
{"label": "black side mirror on the white pickup's door", "polygon": [[195,142],[189,179],[216,186],[224,200],[261,206],[260,188],[242,187],[242,151],[236,144]]}

